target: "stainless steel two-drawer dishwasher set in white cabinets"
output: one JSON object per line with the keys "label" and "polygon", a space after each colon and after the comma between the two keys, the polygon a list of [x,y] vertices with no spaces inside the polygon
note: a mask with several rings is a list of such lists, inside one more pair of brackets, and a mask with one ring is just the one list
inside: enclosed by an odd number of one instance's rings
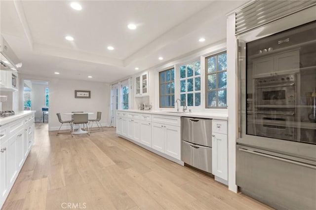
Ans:
{"label": "stainless steel two-drawer dishwasher set in white cabinets", "polygon": [[212,173],[212,119],[181,117],[181,160]]}

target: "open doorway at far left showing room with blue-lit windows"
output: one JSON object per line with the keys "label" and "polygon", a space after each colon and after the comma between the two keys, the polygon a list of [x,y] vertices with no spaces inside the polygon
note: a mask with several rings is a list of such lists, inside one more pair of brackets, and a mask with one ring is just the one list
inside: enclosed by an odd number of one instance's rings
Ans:
{"label": "open doorway at far left showing room with blue-lit windows", "polygon": [[24,110],[34,110],[35,122],[48,123],[49,83],[42,80],[23,80]]}

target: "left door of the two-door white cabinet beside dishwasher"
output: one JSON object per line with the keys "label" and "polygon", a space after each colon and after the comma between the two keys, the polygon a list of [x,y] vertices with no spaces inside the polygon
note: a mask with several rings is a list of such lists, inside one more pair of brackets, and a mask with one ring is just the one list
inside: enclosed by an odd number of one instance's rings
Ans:
{"label": "left door of the two-door white cabinet beside dishwasher", "polygon": [[164,152],[164,125],[152,123],[152,148]]}

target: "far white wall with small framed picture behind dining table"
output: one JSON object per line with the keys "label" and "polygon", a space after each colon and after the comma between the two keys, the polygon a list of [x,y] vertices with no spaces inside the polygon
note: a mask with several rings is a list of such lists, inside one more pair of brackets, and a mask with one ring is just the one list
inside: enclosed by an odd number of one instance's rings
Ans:
{"label": "far white wall with small framed picture behind dining table", "polygon": [[[62,119],[71,119],[70,115],[63,113],[71,111],[86,111],[94,112],[89,115],[89,118],[96,118],[96,112],[101,111],[101,124],[108,125],[108,114],[110,107],[110,85],[108,83],[90,82],[70,79],[56,79],[50,77],[39,77],[34,75],[21,74],[21,79],[45,80],[49,82],[49,130],[57,130],[60,126],[57,112],[61,113]],[[75,98],[75,90],[91,91],[90,99]],[[23,97],[23,91],[20,89],[20,99]],[[23,99],[22,99],[23,102]],[[23,110],[23,105],[20,103],[20,110]],[[65,125],[66,128],[66,125]]]}

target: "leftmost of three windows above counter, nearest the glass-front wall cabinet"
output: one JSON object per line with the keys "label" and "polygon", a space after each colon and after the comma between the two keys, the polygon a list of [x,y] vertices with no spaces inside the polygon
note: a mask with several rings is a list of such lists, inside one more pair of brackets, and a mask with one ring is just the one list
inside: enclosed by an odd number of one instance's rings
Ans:
{"label": "leftmost of three windows above counter, nearest the glass-front wall cabinet", "polygon": [[174,68],[159,72],[159,107],[174,107]]}

